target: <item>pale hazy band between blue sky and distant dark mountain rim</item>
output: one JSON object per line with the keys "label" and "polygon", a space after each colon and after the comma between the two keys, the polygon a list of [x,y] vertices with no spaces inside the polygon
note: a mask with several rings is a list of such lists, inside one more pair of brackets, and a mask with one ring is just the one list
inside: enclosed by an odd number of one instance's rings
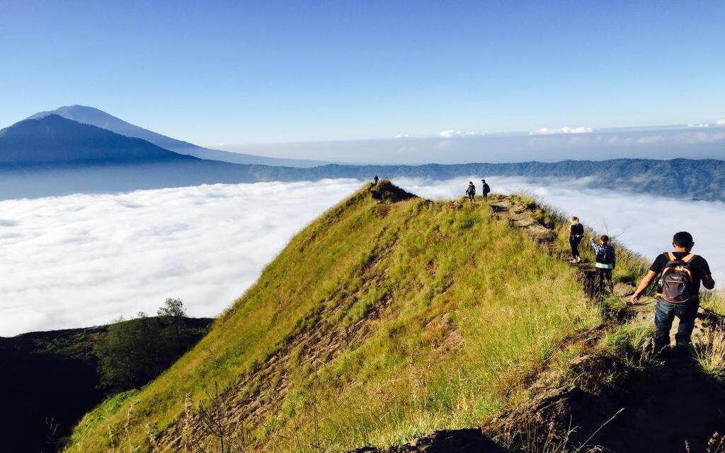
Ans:
{"label": "pale hazy band between blue sky and distant dark mountain rim", "polygon": [[557,162],[605,159],[724,159],[725,120],[699,125],[547,130],[530,133],[217,146],[265,157],[352,165]]}

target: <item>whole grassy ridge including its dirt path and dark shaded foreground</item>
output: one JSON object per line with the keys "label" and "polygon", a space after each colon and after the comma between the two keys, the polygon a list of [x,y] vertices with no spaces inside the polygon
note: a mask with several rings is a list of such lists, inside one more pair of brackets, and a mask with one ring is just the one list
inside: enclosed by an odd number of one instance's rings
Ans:
{"label": "whole grassy ridge including its dirt path and dark shaded foreground", "polygon": [[[90,412],[67,452],[705,451],[725,428],[724,370],[708,365],[725,319],[701,309],[697,360],[663,363],[655,299],[623,303],[647,262],[615,244],[602,294],[591,249],[567,264],[565,222],[526,196],[365,185],[170,370]],[[674,379],[684,406],[659,385]]]}

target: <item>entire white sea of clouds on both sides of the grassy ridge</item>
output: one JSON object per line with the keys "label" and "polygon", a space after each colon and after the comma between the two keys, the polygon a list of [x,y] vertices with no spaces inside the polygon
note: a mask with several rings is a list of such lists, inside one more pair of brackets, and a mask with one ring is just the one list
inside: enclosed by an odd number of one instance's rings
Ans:
{"label": "entire white sea of clouds on both sides of the grassy ridge", "polygon": [[[480,188],[480,178],[476,181]],[[431,199],[463,195],[468,179],[399,179]],[[489,178],[494,191],[529,191],[647,257],[676,230],[725,278],[724,203],[585,188],[584,181]],[[287,241],[358,180],[216,184],[128,194],[0,202],[0,336],[108,323],[155,313],[180,297],[189,315],[216,316]],[[674,220],[676,219],[676,220]]]}

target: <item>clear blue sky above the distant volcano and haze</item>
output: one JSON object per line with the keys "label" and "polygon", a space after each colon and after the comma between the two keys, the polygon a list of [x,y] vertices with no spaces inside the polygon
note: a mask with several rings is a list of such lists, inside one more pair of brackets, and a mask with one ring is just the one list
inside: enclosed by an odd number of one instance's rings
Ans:
{"label": "clear blue sky above the distant volcano and haze", "polygon": [[0,1],[0,125],[197,144],[725,118],[725,2]]}

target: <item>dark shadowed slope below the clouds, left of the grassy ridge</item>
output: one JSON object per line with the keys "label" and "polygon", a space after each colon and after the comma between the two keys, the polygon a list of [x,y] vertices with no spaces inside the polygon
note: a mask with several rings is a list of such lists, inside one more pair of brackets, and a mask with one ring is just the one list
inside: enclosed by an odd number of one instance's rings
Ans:
{"label": "dark shadowed slope below the clouds, left of the grassy ridge", "polygon": [[[210,318],[183,318],[179,349],[165,366],[196,344],[211,325]],[[127,325],[156,323],[157,318],[123,321]],[[0,439],[3,452],[54,452],[80,417],[125,386],[103,386],[94,347],[113,325],[0,337]],[[169,328],[165,328],[169,329]],[[162,328],[160,333],[169,333]],[[152,375],[151,378],[154,376]]]}

